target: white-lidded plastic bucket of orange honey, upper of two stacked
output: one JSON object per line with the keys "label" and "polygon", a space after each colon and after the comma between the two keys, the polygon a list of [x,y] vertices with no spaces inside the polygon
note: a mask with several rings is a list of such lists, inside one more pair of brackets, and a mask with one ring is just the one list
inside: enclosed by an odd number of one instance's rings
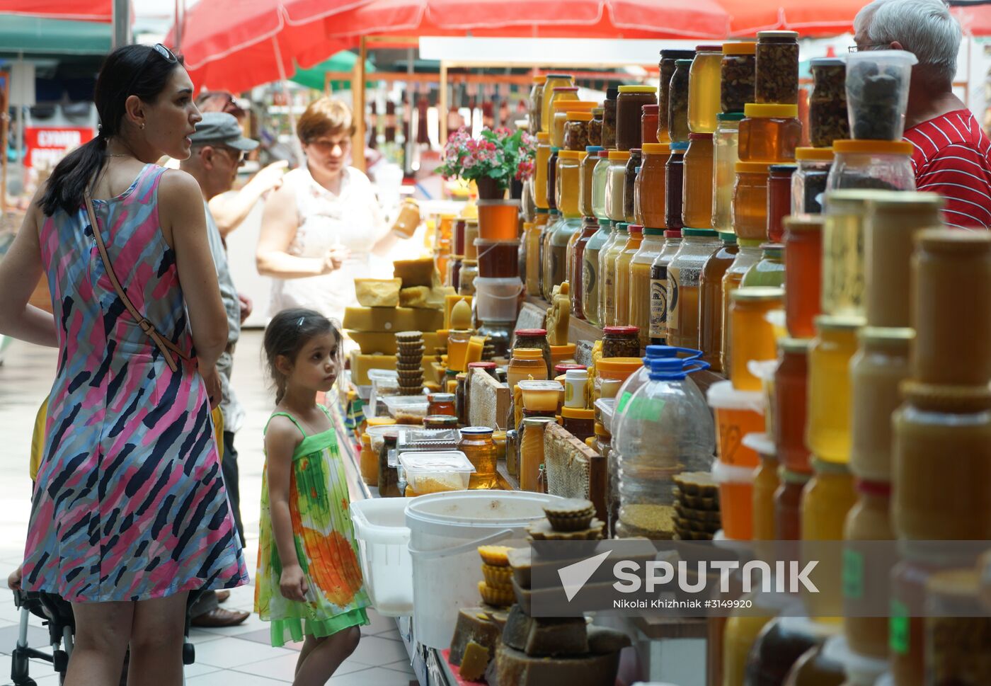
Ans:
{"label": "white-lidded plastic bucket of orange honey, upper of two stacked", "polygon": [[760,458],[742,441],[748,433],[764,433],[764,394],[737,391],[732,382],[720,381],[710,387],[708,400],[716,413],[719,461],[730,467],[756,467]]}

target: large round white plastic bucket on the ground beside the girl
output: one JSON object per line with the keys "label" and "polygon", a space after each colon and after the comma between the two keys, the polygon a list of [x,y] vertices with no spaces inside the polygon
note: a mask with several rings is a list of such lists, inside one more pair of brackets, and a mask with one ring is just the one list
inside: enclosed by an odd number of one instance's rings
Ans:
{"label": "large round white plastic bucket on the ground beside the girl", "polygon": [[458,611],[481,602],[478,547],[526,545],[526,524],[544,516],[544,505],[560,500],[525,491],[459,491],[411,501],[406,525],[417,642],[448,647]]}

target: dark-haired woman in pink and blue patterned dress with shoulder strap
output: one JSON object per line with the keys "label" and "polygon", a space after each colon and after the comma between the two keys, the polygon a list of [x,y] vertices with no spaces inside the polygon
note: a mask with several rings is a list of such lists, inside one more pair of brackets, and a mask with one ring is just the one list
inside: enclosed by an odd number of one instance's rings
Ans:
{"label": "dark-haired woman in pink and blue patterned dress with shoulder strap", "polygon": [[[203,203],[191,176],[154,164],[189,156],[192,88],[161,45],[107,57],[99,136],[55,168],[0,264],[0,331],[59,350],[21,586],[72,603],[69,686],[117,683],[129,644],[130,683],[177,686],[188,593],[248,581],[210,419],[227,318]],[[132,316],[94,231],[187,358]],[[54,315],[27,304],[42,275]]]}

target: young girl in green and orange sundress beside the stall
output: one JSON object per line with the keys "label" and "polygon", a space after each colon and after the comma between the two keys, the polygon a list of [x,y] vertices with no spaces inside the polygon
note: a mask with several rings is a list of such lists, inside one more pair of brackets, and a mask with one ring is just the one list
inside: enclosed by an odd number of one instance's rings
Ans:
{"label": "young girl in green and orange sundress beside the stall", "polygon": [[255,612],[272,644],[305,636],[295,686],[324,684],[369,623],[344,463],[316,402],[342,369],[341,333],[321,314],[285,309],[265,331],[275,412],[265,430]]}

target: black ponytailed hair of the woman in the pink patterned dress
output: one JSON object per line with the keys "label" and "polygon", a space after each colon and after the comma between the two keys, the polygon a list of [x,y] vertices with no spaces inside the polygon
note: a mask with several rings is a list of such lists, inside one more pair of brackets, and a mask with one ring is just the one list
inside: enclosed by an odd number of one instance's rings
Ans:
{"label": "black ponytailed hair of the woman in the pink patterned dress", "polygon": [[41,199],[46,215],[52,216],[59,208],[71,214],[79,208],[86,186],[106,162],[107,139],[121,131],[128,97],[137,95],[145,102],[155,102],[172,71],[181,64],[181,57],[171,61],[149,46],[124,46],[107,56],[93,93],[100,117],[99,134],[55,167]]}

